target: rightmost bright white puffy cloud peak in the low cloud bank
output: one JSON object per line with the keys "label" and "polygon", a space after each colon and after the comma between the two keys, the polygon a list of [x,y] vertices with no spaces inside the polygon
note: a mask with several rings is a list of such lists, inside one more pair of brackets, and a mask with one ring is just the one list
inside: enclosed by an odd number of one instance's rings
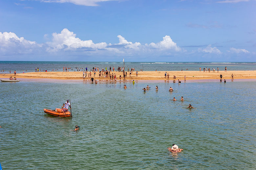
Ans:
{"label": "rightmost bright white puffy cloud peak in the low cloud bank", "polygon": [[153,48],[159,48],[159,49],[173,49],[175,51],[181,50],[181,48],[177,46],[177,43],[172,41],[169,35],[164,36],[163,41],[160,41],[158,43],[151,42],[149,45],[152,46]]}

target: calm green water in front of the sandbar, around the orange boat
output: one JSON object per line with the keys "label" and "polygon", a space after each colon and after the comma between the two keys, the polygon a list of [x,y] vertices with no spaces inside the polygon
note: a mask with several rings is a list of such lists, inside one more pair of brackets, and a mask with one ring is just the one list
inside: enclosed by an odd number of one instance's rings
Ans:
{"label": "calm green water in front of the sandbar, around the orange boat", "polygon": [[[122,81],[0,83],[2,168],[256,168],[255,81],[125,84],[127,89]],[[144,93],[146,85],[152,88]],[[66,99],[72,118],[43,112]],[[75,125],[77,132],[71,131]],[[170,153],[172,144],[184,151]]]}

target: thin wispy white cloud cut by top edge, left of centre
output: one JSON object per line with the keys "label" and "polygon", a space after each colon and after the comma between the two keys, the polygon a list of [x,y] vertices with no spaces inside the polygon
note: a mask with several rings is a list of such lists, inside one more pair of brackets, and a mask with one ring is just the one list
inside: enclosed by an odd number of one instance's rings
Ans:
{"label": "thin wispy white cloud cut by top edge, left of centre", "polygon": [[114,0],[40,0],[41,2],[48,2],[48,3],[72,3],[75,5],[83,5],[83,6],[98,6],[98,2],[105,2],[105,1],[114,1]]}

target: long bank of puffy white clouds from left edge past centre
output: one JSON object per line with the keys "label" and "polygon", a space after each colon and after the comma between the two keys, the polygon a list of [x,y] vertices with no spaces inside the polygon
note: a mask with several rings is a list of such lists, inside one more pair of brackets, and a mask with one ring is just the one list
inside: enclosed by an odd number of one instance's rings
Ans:
{"label": "long bank of puffy white clouds from left edge past centre", "polygon": [[[60,33],[53,33],[52,38],[45,34],[44,39],[47,41],[43,44],[37,44],[23,37],[18,37],[12,32],[0,32],[0,53],[7,54],[32,54],[37,52],[43,54],[45,52],[60,53],[70,51],[76,54],[102,54],[102,55],[145,55],[145,54],[162,54],[169,55],[180,52],[181,48],[177,43],[173,42],[170,36],[166,35],[160,42],[151,42],[142,45],[140,42],[129,42],[123,36],[118,35],[119,42],[116,44],[99,42],[94,43],[92,40],[81,40],[76,34],[64,28]],[[184,52],[184,50],[183,50]]]}

